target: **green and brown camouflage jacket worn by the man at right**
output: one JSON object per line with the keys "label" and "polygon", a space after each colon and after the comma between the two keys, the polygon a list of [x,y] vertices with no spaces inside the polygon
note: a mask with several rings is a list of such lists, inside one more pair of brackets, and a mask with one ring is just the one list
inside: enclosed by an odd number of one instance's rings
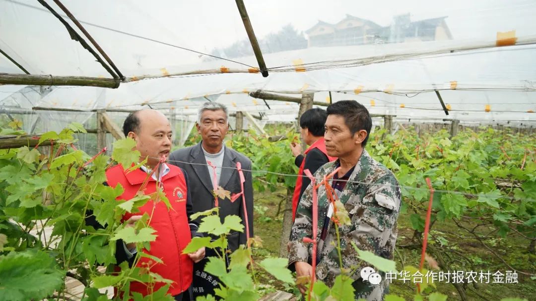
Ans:
{"label": "green and brown camouflage jacket worn by the man at right", "polygon": [[[337,164],[338,160],[320,167],[315,173],[317,183],[331,173]],[[397,241],[400,199],[400,188],[393,173],[363,150],[340,195],[340,201],[352,221],[349,226],[340,226],[339,234],[343,267],[351,269],[351,277],[355,280],[353,283],[355,299],[383,300],[383,295],[388,292],[389,283],[385,281],[384,273],[379,273],[383,280],[377,285],[361,279],[361,269],[369,264],[358,258],[350,242],[353,241],[360,250],[370,251],[377,256],[392,260],[394,244]],[[321,186],[318,188],[317,252],[321,252],[322,260],[316,267],[316,276],[318,280],[331,286],[341,271],[337,249],[334,247],[337,244],[337,235],[332,220],[325,241],[320,239],[328,207],[329,200],[324,186]],[[289,264],[296,261],[311,262],[312,244],[305,244],[302,241],[304,237],[311,238],[311,236],[312,187],[309,185],[296,211],[289,243]]]}

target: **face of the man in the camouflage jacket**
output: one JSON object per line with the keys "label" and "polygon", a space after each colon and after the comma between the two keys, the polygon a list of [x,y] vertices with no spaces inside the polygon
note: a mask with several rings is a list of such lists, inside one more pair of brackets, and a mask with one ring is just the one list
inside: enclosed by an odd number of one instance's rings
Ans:
{"label": "face of the man in the camouflage jacket", "polygon": [[345,158],[356,148],[361,147],[361,140],[358,137],[359,132],[352,135],[344,122],[344,117],[341,115],[327,115],[325,129],[324,140],[327,155]]}

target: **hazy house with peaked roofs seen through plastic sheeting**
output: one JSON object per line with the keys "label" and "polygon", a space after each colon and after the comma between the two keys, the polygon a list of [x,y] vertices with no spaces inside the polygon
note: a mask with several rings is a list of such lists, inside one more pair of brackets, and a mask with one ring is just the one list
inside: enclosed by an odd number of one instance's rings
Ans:
{"label": "hazy house with peaked roofs seen through plastic sheeting", "polygon": [[347,14],[337,24],[318,21],[306,30],[308,47],[451,40],[445,18],[412,22],[408,13],[394,17],[392,25],[382,27],[373,21]]}

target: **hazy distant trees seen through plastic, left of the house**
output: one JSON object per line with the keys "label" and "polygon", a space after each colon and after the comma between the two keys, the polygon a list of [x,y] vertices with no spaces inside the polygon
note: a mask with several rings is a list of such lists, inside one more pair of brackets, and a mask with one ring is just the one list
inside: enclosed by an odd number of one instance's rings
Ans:
{"label": "hazy distant trees seen through plastic, left of the house", "polygon": [[[298,32],[291,24],[285,25],[279,32],[270,33],[259,40],[260,50],[263,53],[296,50],[307,48],[307,39],[303,32]],[[223,58],[236,58],[254,55],[249,40],[241,40],[226,48],[216,48],[211,55]]]}

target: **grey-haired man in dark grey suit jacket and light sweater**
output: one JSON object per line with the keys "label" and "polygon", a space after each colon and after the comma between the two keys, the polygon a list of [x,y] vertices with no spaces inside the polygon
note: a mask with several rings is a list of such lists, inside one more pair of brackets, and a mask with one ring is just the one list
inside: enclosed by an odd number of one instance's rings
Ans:
{"label": "grey-haired man in dark grey suit jacket and light sweater", "polygon": [[[229,128],[227,107],[220,103],[207,102],[199,109],[197,132],[202,141],[197,145],[174,151],[169,156],[169,163],[179,166],[190,175],[190,191],[193,199],[193,212],[212,209],[215,206],[214,177],[217,185],[230,191],[231,194],[241,192],[240,176],[236,164],[240,162],[244,169],[245,210],[248,214],[249,234],[253,237],[253,186],[251,179],[251,160],[224,144],[224,138]],[[215,166],[215,171],[210,164]],[[215,173],[215,174],[214,174]],[[234,231],[227,237],[230,251],[246,244],[248,237],[245,231],[245,216],[242,198],[231,202],[230,199],[219,198],[219,214],[221,222],[228,215],[238,215],[244,225],[243,233]],[[207,257],[215,256],[212,250],[207,250]],[[214,294],[218,288],[218,278],[204,272],[207,259],[194,266],[193,295],[194,297]]]}

